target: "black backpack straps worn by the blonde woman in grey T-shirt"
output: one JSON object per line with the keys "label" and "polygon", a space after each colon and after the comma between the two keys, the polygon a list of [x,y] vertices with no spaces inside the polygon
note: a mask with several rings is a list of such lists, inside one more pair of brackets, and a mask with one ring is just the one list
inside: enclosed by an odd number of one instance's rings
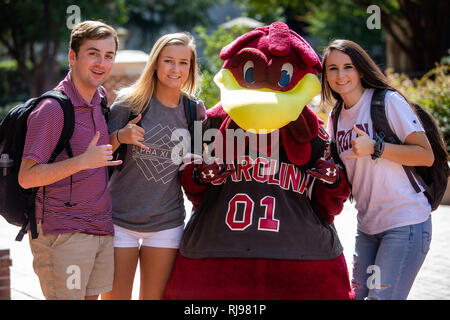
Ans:
{"label": "black backpack straps worn by the blonde woman in grey T-shirt", "polygon": [[[188,130],[191,135],[191,137],[194,137],[194,122],[197,120],[197,102],[190,99],[186,95],[182,95],[183,99],[183,106],[184,106],[184,114],[186,115],[187,124],[188,124]],[[137,125],[140,126],[140,123],[142,122],[142,119],[144,119],[145,115],[147,114],[149,108],[145,109],[142,113],[141,120],[137,123]],[[136,118],[137,115],[131,114],[128,118],[128,122]],[[194,150],[194,139],[191,139],[191,150]],[[120,171],[123,168],[124,161],[125,161],[125,155],[127,153],[127,144],[121,144],[117,150],[114,152],[114,160],[122,160],[122,164],[118,166],[110,166],[108,167],[109,176],[111,177],[114,173],[114,170]]]}

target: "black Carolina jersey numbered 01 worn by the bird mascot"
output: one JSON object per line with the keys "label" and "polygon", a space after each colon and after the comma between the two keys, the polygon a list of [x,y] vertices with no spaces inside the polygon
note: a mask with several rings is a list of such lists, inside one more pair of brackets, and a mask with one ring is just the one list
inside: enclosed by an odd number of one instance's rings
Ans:
{"label": "black Carolina jersey numbered 01 worn by the bird mascot", "polygon": [[314,157],[304,166],[292,164],[282,147],[276,158],[239,156],[228,165],[234,173],[205,190],[186,227],[182,255],[337,258],[342,247],[336,231],[313,209],[314,185],[305,173],[324,154],[326,142],[319,135],[311,140]]}

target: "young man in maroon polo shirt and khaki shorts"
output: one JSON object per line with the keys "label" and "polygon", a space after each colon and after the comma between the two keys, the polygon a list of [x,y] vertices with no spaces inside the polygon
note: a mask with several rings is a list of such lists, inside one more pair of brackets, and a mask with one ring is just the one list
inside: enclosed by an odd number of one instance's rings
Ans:
{"label": "young man in maroon polo shirt and khaki shorts", "polygon": [[117,47],[115,30],[104,23],[85,21],[72,30],[70,71],[56,89],[67,94],[75,111],[73,158],[63,151],[47,163],[64,123],[55,100],[43,100],[28,118],[19,183],[45,186],[36,196],[39,237],[30,236],[30,247],[46,299],[97,299],[112,288],[114,229],[105,166],[121,161],[111,161],[98,86]]}

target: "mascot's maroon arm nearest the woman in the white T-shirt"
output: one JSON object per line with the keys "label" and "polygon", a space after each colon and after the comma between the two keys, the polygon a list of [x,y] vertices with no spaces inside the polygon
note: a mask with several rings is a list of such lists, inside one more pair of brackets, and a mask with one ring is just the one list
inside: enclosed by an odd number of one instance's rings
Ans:
{"label": "mascot's maroon arm nearest the woman in the white T-shirt", "polygon": [[319,179],[312,193],[312,206],[315,212],[328,224],[332,224],[334,216],[341,213],[344,201],[350,195],[350,184],[343,170],[339,171],[339,179],[334,184],[327,184]]}

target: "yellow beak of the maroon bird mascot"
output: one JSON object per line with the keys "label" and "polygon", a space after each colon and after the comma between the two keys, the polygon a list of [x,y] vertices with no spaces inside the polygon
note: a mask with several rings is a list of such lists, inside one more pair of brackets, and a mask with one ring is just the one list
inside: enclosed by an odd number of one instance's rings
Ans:
{"label": "yellow beak of the maroon bird mascot", "polygon": [[298,118],[306,103],[320,90],[317,76],[307,73],[289,91],[241,87],[228,69],[214,77],[222,108],[239,127],[253,133],[270,133]]}

